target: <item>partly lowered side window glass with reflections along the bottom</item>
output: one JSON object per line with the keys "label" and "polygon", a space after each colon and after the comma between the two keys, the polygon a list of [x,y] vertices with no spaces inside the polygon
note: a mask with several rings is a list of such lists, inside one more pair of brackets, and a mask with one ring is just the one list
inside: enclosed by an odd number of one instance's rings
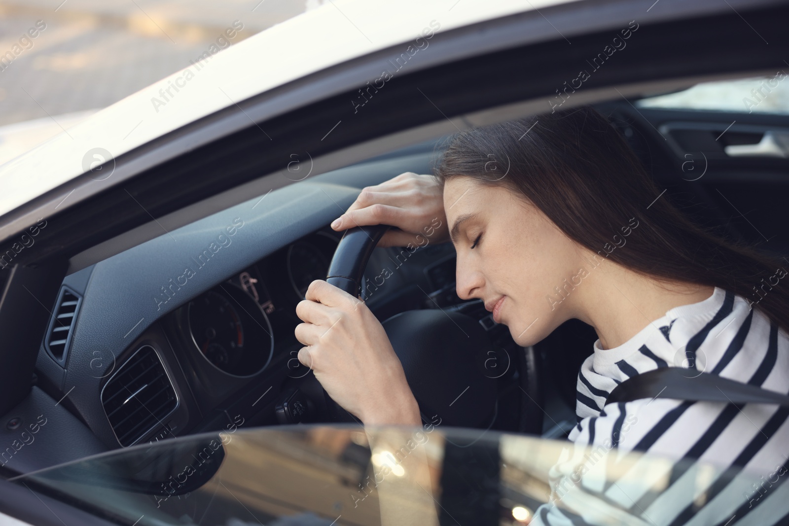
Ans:
{"label": "partly lowered side window glass with reflections along the bottom", "polygon": [[780,499],[764,477],[696,461],[433,425],[231,426],[13,480],[140,526],[670,524],[690,501],[717,524]]}

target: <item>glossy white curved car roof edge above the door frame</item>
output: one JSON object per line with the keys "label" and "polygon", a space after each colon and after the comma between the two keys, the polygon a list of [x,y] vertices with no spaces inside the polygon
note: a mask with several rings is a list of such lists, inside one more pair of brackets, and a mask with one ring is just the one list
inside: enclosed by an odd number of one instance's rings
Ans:
{"label": "glossy white curved car roof edge above the door frame", "polygon": [[[443,32],[564,2],[569,0],[329,0],[190,64],[6,162],[0,166],[0,215],[87,172],[86,155],[96,148],[118,157],[264,91],[413,41],[424,28]],[[100,158],[88,155],[88,166],[93,159]]]}

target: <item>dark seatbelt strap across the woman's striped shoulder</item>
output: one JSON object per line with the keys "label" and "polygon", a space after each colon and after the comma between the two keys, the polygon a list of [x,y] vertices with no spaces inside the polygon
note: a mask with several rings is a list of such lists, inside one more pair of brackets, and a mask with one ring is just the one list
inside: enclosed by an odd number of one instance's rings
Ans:
{"label": "dark seatbelt strap across the woman's striped shoulder", "polygon": [[694,373],[693,369],[684,367],[660,367],[632,376],[616,386],[605,403],[642,398],[789,406],[789,396],[786,394],[707,372]]}

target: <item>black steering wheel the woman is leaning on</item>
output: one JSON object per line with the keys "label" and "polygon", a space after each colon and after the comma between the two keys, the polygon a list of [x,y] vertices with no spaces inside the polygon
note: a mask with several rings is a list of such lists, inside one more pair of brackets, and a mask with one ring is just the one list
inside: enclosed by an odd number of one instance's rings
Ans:
{"label": "black steering wheel the woman is leaning on", "polygon": [[[326,281],[359,297],[368,260],[389,228],[376,225],[346,230],[331,260]],[[518,382],[521,390],[506,394],[510,412],[519,413],[517,426],[510,425],[507,431],[539,432],[542,423],[538,403],[539,354],[532,347],[516,346],[512,353],[504,350],[507,353],[504,357],[503,349],[492,338],[491,324],[481,323],[488,317],[482,301],[476,300],[447,308],[436,305],[436,308],[401,312],[384,321],[383,328],[402,363],[423,420],[457,427],[491,427],[501,418],[500,388],[503,376],[509,372],[510,388],[513,382]],[[507,338],[508,334],[507,331]],[[514,345],[511,338],[510,342]],[[499,368],[492,367],[492,360],[499,359],[501,363],[496,364]],[[499,374],[505,365],[507,370]],[[323,394],[330,420],[356,421],[325,391]]]}

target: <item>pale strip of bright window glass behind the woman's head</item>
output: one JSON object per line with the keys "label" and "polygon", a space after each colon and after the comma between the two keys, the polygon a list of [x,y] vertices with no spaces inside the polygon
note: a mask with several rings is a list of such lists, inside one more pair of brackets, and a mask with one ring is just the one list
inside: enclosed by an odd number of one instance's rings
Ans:
{"label": "pale strip of bright window glass behind the woman's head", "polygon": [[676,93],[641,99],[643,108],[718,110],[743,113],[789,114],[787,73],[770,76],[702,82]]}

